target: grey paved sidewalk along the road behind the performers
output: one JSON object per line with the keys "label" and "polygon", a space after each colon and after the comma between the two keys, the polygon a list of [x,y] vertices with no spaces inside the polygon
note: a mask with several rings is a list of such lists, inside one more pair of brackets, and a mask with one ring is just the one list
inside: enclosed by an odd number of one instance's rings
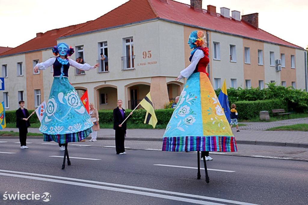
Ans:
{"label": "grey paved sidewalk along the road behind the performers", "polygon": [[[240,126],[240,132],[232,128],[237,142],[238,152],[217,153],[224,155],[238,155],[251,157],[265,157],[277,159],[294,159],[308,161],[308,132],[303,131],[264,131],[271,127],[308,123],[308,118],[289,119],[268,123],[245,123],[247,126]],[[244,124],[244,123],[242,123]],[[18,128],[5,128],[3,131],[16,131]],[[40,133],[38,128],[29,128],[29,132]],[[129,129],[125,138],[125,147],[128,149],[161,150],[162,129]],[[115,131],[113,129],[101,129],[97,134],[96,142],[70,143],[75,146],[92,147],[114,147]],[[19,137],[0,136],[0,141],[16,143]],[[43,137],[27,137],[27,142],[42,144]],[[50,142],[57,145],[55,142]],[[257,145],[257,146],[256,146]]]}

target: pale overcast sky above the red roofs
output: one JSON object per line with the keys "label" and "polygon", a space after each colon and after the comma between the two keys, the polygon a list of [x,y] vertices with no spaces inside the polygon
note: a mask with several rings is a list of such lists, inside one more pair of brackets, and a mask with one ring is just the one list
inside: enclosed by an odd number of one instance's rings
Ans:
{"label": "pale overcast sky above the red roofs", "polygon": [[[94,20],[127,1],[0,0],[0,46],[16,47],[36,33]],[[305,49],[308,45],[308,0],[203,0],[202,8],[207,5],[216,6],[217,13],[220,7],[259,13],[259,28]]]}

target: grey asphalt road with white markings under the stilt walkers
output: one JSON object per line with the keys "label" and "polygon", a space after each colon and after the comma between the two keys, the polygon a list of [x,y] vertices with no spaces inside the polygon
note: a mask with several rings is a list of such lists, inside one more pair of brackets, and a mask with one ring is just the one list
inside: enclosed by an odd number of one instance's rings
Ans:
{"label": "grey asphalt road with white markings under the stilt walkers", "polygon": [[[0,144],[0,204],[306,205],[308,201],[304,161],[215,155],[207,161],[207,184],[204,170],[198,180],[193,169],[196,153],[127,150],[127,155],[116,155],[112,148],[74,146],[68,151],[72,164],[61,170],[64,152],[58,146],[31,144],[20,149],[16,143]],[[48,198],[3,200],[5,194],[18,191],[40,196],[48,192],[51,198],[49,202],[43,201]]]}

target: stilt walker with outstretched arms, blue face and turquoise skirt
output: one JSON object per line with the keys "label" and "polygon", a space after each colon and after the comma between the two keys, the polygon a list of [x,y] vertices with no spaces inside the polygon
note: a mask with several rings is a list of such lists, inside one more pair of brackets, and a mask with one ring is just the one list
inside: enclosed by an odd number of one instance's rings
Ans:
{"label": "stilt walker with outstretched arms, blue face and turquoise skirt", "polygon": [[65,144],[65,152],[62,169],[65,168],[65,159],[67,157],[67,165],[71,165],[67,143],[79,142],[90,135],[91,122],[90,115],[83,106],[75,88],[68,81],[68,69],[70,66],[79,70],[95,69],[95,66],[89,64],[80,64],[67,56],[74,53],[73,48],[69,48],[66,43],[59,43],[52,49],[55,58],[50,58],[45,62],[38,63],[34,67],[34,72],[45,70],[53,65],[54,81],[51,86],[46,111],[43,116],[39,131],[43,133],[44,141],[55,141]]}

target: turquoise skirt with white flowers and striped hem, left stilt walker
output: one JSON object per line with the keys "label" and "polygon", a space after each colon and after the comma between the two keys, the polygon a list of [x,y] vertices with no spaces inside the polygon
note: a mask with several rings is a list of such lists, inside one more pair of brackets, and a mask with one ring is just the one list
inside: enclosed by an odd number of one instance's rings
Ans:
{"label": "turquoise skirt with white flowers and striped hem, left stilt walker", "polygon": [[54,77],[39,131],[44,141],[79,142],[90,135],[93,123],[67,78]]}

